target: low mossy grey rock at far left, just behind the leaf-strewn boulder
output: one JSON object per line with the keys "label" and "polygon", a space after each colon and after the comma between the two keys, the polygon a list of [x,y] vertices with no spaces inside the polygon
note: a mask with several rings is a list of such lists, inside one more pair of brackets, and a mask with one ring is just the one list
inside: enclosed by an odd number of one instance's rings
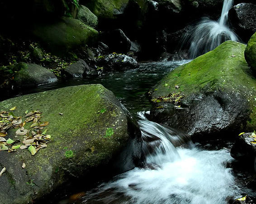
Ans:
{"label": "low mossy grey rock at far left, just behind the leaf-strewn boulder", "polygon": [[52,72],[37,64],[18,63],[15,66],[11,66],[10,69],[17,70],[14,73],[14,79],[11,81],[15,88],[33,87],[39,84],[57,81],[57,78]]}

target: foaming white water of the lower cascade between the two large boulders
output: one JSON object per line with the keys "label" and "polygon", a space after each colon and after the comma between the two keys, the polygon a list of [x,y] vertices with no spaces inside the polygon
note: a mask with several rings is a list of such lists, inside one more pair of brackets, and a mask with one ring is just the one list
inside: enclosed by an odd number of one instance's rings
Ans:
{"label": "foaming white water of the lower cascade between the two large boulders", "polygon": [[[225,165],[232,160],[228,150],[199,150],[185,134],[180,133],[179,139],[175,130],[140,115],[143,139],[158,138],[161,144],[156,142],[153,152],[144,144],[144,168],[123,173],[87,192],[83,204],[227,204],[228,196],[239,195],[231,169]],[[175,148],[177,141],[187,141],[187,148]]]}

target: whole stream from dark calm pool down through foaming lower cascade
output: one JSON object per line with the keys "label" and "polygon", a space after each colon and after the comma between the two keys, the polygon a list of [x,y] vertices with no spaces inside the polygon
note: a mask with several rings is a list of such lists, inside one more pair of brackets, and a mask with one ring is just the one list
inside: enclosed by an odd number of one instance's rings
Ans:
{"label": "whole stream from dark calm pool down through foaming lower cascade", "polygon": [[[233,204],[231,199],[247,194],[256,197],[255,187],[247,187],[253,174],[233,169],[232,142],[193,144],[182,132],[145,117],[151,107],[145,93],[171,70],[187,62],[141,63],[138,69],[107,73],[95,79],[73,78],[33,90],[12,91],[4,98],[100,83],[113,91],[136,116],[144,141],[144,167],[118,175],[92,190],[81,189],[86,192],[76,201],[78,204]],[[150,141],[152,137],[156,138],[155,143],[148,145],[148,138]],[[235,165],[236,168],[239,169],[239,165]],[[62,203],[65,202],[62,200]]]}

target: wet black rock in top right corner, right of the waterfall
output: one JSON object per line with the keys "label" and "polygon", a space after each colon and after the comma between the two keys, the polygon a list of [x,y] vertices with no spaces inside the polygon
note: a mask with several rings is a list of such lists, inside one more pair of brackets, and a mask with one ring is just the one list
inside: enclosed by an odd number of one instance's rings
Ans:
{"label": "wet black rock in top right corner, right of the waterfall", "polygon": [[228,20],[237,35],[248,42],[256,32],[256,5],[251,3],[235,5],[228,12]]}

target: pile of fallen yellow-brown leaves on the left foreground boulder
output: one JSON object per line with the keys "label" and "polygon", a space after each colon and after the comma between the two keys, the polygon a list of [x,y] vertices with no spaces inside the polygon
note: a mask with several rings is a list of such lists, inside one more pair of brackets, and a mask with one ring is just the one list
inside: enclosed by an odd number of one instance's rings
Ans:
{"label": "pile of fallen yellow-brown leaves on the left foreground boulder", "polygon": [[[15,110],[17,107],[13,107],[10,111]],[[0,151],[7,150],[8,152],[15,152],[18,149],[24,150],[28,148],[28,151],[31,155],[35,155],[38,150],[47,147],[47,143],[50,142],[50,135],[47,135],[47,129],[44,130],[49,122],[41,122],[43,117],[39,110],[31,111],[28,113],[28,110],[25,112],[25,121],[23,122],[22,117],[15,117],[13,112],[1,111],[0,112]],[[33,122],[28,129],[25,129],[24,126],[27,122]],[[15,132],[15,137],[23,136],[23,141],[21,140],[12,140],[5,139],[5,136],[8,135],[7,131],[9,129],[17,129]],[[31,133],[30,133],[31,132]],[[14,145],[15,143],[21,143],[19,145]],[[11,146],[9,148],[8,146]]]}

